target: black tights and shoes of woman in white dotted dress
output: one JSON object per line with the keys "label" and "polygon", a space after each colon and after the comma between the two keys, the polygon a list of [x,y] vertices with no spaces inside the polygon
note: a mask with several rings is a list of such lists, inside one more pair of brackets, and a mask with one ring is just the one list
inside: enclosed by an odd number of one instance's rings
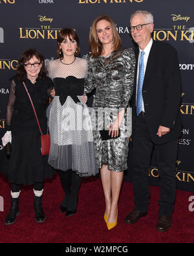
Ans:
{"label": "black tights and shoes of woman in white dotted dress", "polygon": [[63,207],[67,207],[69,211],[74,211],[78,202],[78,191],[81,185],[81,178],[72,170],[59,171],[59,177],[65,197],[62,202]]}

